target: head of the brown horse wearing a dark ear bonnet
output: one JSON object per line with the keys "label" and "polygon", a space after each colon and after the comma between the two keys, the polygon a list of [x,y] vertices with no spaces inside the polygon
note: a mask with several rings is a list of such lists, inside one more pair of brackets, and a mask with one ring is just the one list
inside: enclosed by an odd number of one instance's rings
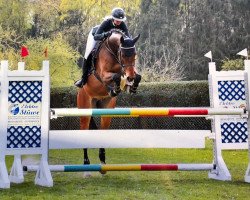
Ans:
{"label": "head of the brown horse wearing a dark ear bonnet", "polygon": [[135,43],[139,39],[140,35],[135,38],[129,38],[121,36],[120,38],[120,62],[123,67],[123,71],[127,76],[129,82],[135,79],[135,60],[136,60],[136,48]]}

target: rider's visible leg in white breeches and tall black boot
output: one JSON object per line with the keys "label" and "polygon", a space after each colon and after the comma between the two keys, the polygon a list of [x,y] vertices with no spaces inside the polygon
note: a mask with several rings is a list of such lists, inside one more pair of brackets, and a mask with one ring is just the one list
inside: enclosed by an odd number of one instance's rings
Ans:
{"label": "rider's visible leg in white breeches and tall black boot", "polygon": [[88,63],[87,63],[87,59],[89,57],[89,54],[91,53],[91,51],[95,47],[95,44],[96,44],[96,41],[94,40],[94,36],[92,35],[92,29],[91,29],[91,31],[89,32],[89,35],[88,35],[86,51],[85,51],[84,60],[83,60],[82,78],[75,82],[75,86],[77,86],[77,87],[83,87],[83,85],[85,85],[85,83],[87,82],[88,67],[89,67]]}

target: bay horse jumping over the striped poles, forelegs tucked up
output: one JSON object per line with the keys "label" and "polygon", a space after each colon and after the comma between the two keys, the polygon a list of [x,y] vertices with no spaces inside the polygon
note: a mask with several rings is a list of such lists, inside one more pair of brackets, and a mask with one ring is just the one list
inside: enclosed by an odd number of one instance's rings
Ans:
{"label": "bay horse jumping over the striped poles, forelegs tucked up", "polygon": [[[112,30],[112,34],[100,44],[96,56],[94,70],[87,83],[78,91],[78,108],[115,108],[117,95],[121,92],[121,80],[126,78],[127,91],[135,93],[141,76],[135,71],[136,49],[135,38],[126,37],[120,30]],[[93,117],[80,117],[80,129],[97,129],[95,123],[91,127]],[[100,129],[109,129],[110,117],[101,117]],[[105,162],[105,149],[99,149],[99,159]],[[90,164],[87,149],[84,149],[84,164]],[[86,173],[89,176],[89,173]]]}

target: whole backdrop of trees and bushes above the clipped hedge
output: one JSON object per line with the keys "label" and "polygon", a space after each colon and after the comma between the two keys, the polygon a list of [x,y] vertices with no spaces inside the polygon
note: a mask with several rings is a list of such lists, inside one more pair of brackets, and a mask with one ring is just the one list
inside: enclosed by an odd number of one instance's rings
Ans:
{"label": "whole backdrop of trees and bushes above the clipped hedge", "polygon": [[0,0],[0,58],[15,67],[26,45],[32,68],[47,47],[53,86],[72,85],[89,30],[114,7],[126,11],[132,36],[141,34],[143,81],[207,79],[209,50],[219,67],[242,67],[235,54],[250,45],[249,0]]}

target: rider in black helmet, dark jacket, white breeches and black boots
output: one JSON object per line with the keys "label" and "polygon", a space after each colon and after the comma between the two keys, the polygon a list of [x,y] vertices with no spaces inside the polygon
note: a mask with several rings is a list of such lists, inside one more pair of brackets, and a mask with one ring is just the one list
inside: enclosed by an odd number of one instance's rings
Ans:
{"label": "rider in black helmet, dark jacket, white breeches and black boots", "polygon": [[112,34],[110,31],[112,29],[120,29],[125,33],[126,36],[129,37],[128,28],[124,22],[125,20],[126,16],[124,10],[122,8],[114,8],[110,17],[106,17],[100,26],[91,29],[88,35],[86,51],[84,55],[84,61],[82,66],[82,78],[75,82],[75,86],[83,87],[83,85],[85,85],[85,83],[87,82],[87,59],[91,51],[95,47],[96,41],[104,40],[109,37]]}

